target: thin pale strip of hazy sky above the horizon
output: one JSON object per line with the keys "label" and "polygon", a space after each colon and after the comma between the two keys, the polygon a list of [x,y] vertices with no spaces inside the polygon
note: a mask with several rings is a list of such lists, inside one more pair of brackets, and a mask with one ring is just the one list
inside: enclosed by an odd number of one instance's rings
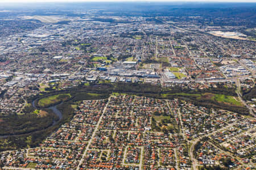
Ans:
{"label": "thin pale strip of hazy sky above the horizon", "polygon": [[162,1],[162,2],[256,2],[256,0],[0,0],[0,3],[27,3],[27,2],[150,2],[150,1]]}

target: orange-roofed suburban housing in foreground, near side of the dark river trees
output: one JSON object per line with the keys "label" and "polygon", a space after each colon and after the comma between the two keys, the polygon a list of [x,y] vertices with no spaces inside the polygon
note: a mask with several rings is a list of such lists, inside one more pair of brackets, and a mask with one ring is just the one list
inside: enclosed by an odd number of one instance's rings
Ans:
{"label": "orange-roofed suburban housing in foreground, near side of the dark river trees", "polygon": [[[35,169],[191,169],[189,140],[209,136],[197,146],[197,163],[224,165],[230,159],[227,166],[233,168],[251,163],[255,148],[255,120],[178,100],[112,95],[82,101],[75,113],[39,147],[2,152],[0,163]],[[152,117],[162,116],[176,122],[180,133],[152,129]]]}

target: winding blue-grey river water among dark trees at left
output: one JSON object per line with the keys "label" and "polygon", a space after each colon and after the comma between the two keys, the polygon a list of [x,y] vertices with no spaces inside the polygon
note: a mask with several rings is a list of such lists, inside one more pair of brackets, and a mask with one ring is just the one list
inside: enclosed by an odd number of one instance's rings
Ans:
{"label": "winding blue-grey river water among dark trees at left", "polygon": [[[62,104],[62,103],[60,103],[60,104]],[[60,105],[60,104],[57,104],[57,105]],[[58,121],[60,121],[60,120],[63,118],[63,115],[62,115],[62,113],[59,111],[59,109],[57,109],[57,105],[53,105],[52,107],[48,107],[47,109],[51,109],[52,112],[55,113],[55,114],[59,117],[59,120],[58,120]],[[35,106],[35,100],[32,101],[32,106],[33,106],[35,109],[38,109],[38,108],[36,108],[36,106]],[[48,128],[51,128],[52,126],[56,125],[56,123],[57,123],[58,121],[53,120],[53,121],[52,121],[52,125],[49,126]],[[40,130],[37,130],[37,131],[40,131]],[[18,136],[20,136],[20,135],[32,134],[32,133],[35,133],[35,132],[36,132],[36,131],[30,132],[30,133],[23,133],[23,134],[0,135],[0,138],[18,137]]]}

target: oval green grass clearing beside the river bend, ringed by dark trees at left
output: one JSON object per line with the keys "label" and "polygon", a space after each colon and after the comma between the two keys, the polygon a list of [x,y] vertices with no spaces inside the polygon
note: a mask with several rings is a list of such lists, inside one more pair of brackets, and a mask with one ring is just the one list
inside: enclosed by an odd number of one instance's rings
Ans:
{"label": "oval green grass clearing beside the river bend, ringed by dark trees at left", "polygon": [[[61,95],[64,95],[64,96],[61,96]],[[38,105],[40,107],[48,107],[49,105],[59,103],[60,101],[67,100],[69,97],[71,97],[70,94],[60,94],[60,95],[49,96],[49,97],[40,99],[38,101]]]}

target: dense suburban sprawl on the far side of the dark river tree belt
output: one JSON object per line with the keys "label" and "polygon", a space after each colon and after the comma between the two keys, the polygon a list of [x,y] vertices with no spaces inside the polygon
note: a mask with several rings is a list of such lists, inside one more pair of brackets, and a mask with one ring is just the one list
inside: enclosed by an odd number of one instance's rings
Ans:
{"label": "dense suburban sprawl on the far side of the dark river tree belt", "polygon": [[[38,94],[43,91],[42,87],[63,89],[77,86],[81,81],[102,80],[208,88],[205,82],[228,84],[230,80],[224,79],[225,76],[251,74],[238,63],[221,66],[219,70],[211,60],[224,56],[230,59],[239,56],[246,67],[255,71],[253,59],[247,59],[253,58],[254,44],[248,41],[230,43],[213,36],[191,35],[144,17],[123,16],[128,23],[97,22],[88,17],[69,16],[70,22],[64,25],[50,24],[0,37],[0,57],[6,58],[0,62],[1,89],[39,88],[30,89],[28,93],[23,91],[24,97]],[[166,17],[162,19],[168,21]],[[195,26],[186,27],[191,25]],[[17,41],[17,36],[22,37],[21,40]],[[122,56],[130,57],[117,62]],[[102,59],[94,61],[93,57]],[[145,69],[143,62],[147,60],[152,63]],[[178,71],[170,71],[170,67]],[[14,78],[6,80],[11,76]],[[5,100],[16,103],[7,97]],[[17,108],[15,112],[20,111]]]}

